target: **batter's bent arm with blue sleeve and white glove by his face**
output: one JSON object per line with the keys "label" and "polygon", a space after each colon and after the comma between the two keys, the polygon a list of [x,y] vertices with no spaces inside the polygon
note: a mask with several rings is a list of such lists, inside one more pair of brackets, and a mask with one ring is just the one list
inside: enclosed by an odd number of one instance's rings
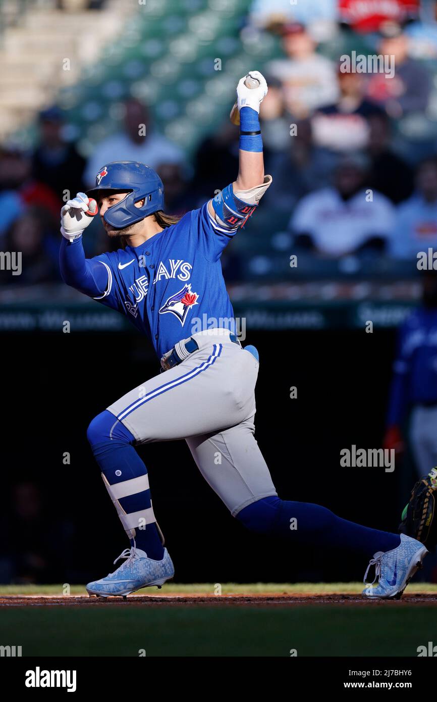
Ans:
{"label": "batter's bent arm with blue sleeve and white glove by his face", "polygon": [[92,297],[105,293],[108,284],[107,268],[98,261],[85,258],[82,246],[82,233],[97,212],[97,203],[84,192],[79,192],[61,210],[59,263],[62,280]]}

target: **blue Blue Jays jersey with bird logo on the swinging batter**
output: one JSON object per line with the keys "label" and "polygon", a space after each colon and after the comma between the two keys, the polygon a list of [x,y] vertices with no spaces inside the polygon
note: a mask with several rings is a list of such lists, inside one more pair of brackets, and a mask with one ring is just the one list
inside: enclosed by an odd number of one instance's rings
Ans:
{"label": "blue Blue Jays jersey with bird logo on the swinging batter", "polygon": [[220,256],[236,230],[220,226],[206,203],[140,246],[95,256],[108,285],[94,299],[126,314],[158,357],[198,331],[235,331]]}

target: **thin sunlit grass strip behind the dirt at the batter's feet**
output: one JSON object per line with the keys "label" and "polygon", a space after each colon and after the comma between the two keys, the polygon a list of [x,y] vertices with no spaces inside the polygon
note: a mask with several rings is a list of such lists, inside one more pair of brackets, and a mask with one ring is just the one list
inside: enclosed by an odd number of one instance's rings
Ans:
{"label": "thin sunlit grass strip behind the dirt at the batter's feet", "polygon": [[[293,594],[293,592],[307,592],[311,595],[354,595],[363,590],[363,583],[221,583],[222,595],[231,595],[233,592],[241,595],[253,595],[257,592],[271,594]],[[64,585],[0,585],[0,597],[2,595],[63,595]],[[71,595],[86,595],[83,585],[71,585],[69,590]],[[189,585],[177,583],[166,583],[163,590],[159,592],[152,590],[141,590],[138,594],[158,595],[171,592],[193,594],[214,594],[214,583],[191,583]],[[436,583],[412,583],[408,585],[408,593],[415,592],[437,592]]]}

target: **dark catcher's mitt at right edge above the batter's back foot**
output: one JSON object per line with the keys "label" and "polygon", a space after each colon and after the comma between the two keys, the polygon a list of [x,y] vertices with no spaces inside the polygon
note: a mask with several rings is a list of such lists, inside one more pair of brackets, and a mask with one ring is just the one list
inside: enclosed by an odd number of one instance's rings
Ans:
{"label": "dark catcher's mitt at right edge above the batter's back foot", "polygon": [[428,549],[437,544],[436,494],[437,468],[433,468],[413,487],[399,524],[401,534],[417,538]]}

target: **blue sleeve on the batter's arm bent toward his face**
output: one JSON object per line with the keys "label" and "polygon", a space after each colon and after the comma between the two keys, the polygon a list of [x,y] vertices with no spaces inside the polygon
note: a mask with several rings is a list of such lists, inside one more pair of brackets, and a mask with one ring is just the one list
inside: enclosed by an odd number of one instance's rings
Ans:
{"label": "blue sleeve on the batter's arm bent toward his face", "polygon": [[108,284],[107,269],[99,261],[85,258],[82,237],[74,241],[62,237],[59,266],[62,280],[72,288],[91,297],[105,293]]}

